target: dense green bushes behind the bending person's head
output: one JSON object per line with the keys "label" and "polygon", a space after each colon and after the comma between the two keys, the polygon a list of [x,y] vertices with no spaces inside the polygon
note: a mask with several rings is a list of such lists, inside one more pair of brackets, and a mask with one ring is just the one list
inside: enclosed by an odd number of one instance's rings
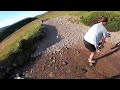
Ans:
{"label": "dense green bushes behind the bending person's head", "polygon": [[93,12],[89,16],[82,19],[85,25],[92,26],[100,15],[108,17],[108,24],[106,28],[110,32],[116,32],[120,30],[120,12],[115,11],[99,11]]}

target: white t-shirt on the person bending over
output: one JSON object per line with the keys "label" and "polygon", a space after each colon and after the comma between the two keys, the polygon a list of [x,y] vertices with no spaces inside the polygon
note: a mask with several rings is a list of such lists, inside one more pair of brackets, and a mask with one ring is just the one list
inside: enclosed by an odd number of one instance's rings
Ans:
{"label": "white t-shirt on the person bending over", "polygon": [[96,48],[102,37],[107,37],[107,29],[102,25],[102,22],[94,24],[85,34],[84,39],[93,44]]}

